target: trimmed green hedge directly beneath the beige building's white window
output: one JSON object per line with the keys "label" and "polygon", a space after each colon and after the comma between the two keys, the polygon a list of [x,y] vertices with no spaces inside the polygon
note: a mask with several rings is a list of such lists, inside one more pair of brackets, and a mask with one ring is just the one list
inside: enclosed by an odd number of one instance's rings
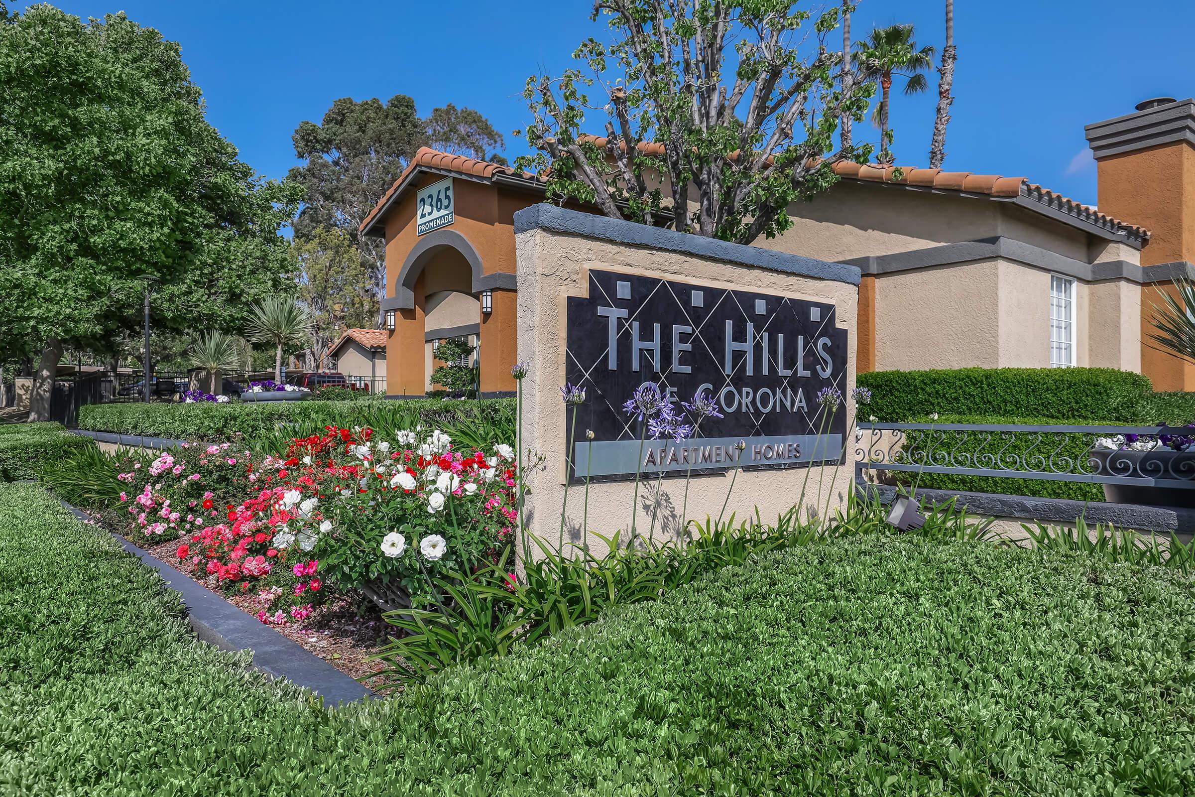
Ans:
{"label": "trimmed green hedge directly beneath the beige building's white window", "polygon": [[1147,376],[1113,368],[877,370],[859,374],[858,384],[871,391],[869,415],[891,422],[938,412],[1136,423],[1152,391]]}

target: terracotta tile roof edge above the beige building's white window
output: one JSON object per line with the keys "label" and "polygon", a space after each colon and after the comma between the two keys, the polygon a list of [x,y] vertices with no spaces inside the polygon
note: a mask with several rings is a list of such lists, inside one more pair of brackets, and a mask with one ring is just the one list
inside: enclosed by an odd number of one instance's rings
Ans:
{"label": "terracotta tile roof edge above the beige building's white window", "polygon": [[987,194],[995,197],[1016,198],[1024,196],[1036,200],[1055,210],[1060,210],[1071,216],[1089,221],[1097,226],[1122,231],[1135,238],[1148,238],[1150,231],[1138,225],[1132,225],[1120,219],[1114,219],[1105,213],[1099,213],[1090,204],[1083,204],[1070,200],[1061,194],[1050,191],[1030,183],[1024,177],[1004,177],[1001,174],[973,174],[972,172],[945,172],[940,168],[914,168],[902,166],[901,178],[893,176],[895,166],[881,166],[877,164],[853,164],[841,161],[834,164],[834,173],[844,179],[865,180],[870,183],[895,183],[900,185],[913,185],[948,191],[963,191],[967,194]]}

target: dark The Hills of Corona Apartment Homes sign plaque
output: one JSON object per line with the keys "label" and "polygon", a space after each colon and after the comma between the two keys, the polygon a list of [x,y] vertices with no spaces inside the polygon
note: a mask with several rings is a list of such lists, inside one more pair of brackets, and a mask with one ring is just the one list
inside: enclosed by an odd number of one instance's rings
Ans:
{"label": "dark The Hills of Corona Apartment Homes sign plaque", "polygon": [[[816,397],[846,392],[846,352],[832,304],[590,270],[589,296],[568,299],[565,380],[586,390],[576,425],[566,417],[571,476],[838,462],[846,409],[831,412]],[[641,443],[644,427],[623,405],[644,382],[678,410],[704,390],[723,417],[681,442],[648,434]]]}

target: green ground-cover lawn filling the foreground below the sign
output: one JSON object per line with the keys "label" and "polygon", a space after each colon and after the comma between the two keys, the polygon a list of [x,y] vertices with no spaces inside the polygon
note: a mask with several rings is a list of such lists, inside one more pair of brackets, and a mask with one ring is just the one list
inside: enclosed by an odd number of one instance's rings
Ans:
{"label": "green ground-cover lawn filling the foreground below the sign", "polygon": [[1191,795],[1193,609],[1169,571],[854,538],[327,712],[0,485],[0,793]]}

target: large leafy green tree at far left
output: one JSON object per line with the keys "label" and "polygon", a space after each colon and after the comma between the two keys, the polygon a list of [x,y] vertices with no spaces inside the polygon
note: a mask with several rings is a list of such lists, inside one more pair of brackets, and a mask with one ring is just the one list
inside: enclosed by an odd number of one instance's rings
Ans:
{"label": "large leafy green tree at far left", "polygon": [[63,345],[110,352],[141,319],[239,325],[289,269],[301,189],[265,183],[207,122],[178,44],[123,13],[48,5],[0,20],[0,295],[6,336],[41,351],[45,417]]}

